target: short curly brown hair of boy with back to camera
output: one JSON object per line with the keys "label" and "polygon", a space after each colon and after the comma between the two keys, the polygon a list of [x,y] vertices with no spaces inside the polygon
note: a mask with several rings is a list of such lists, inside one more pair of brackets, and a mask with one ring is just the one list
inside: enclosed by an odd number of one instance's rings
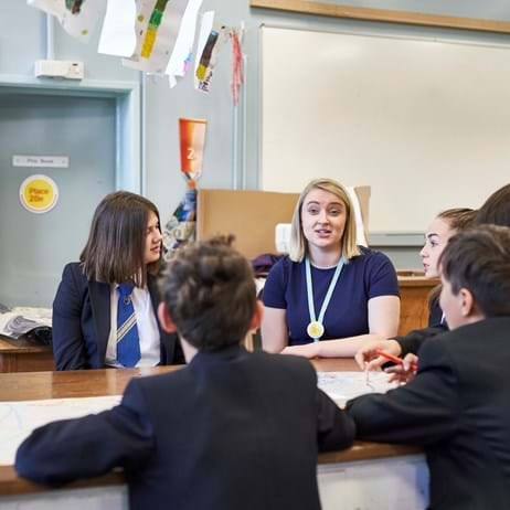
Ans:
{"label": "short curly brown hair of boy with back to camera", "polygon": [[179,249],[159,280],[178,332],[201,351],[240,343],[256,308],[255,281],[233,237],[213,237]]}

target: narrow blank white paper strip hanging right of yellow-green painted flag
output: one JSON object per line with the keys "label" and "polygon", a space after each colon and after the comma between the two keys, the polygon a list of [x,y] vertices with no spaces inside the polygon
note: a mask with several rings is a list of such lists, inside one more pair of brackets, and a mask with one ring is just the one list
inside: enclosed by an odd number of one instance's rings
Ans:
{"label": "narrow blank white paper strip hanging right of yellow-green painted flag", "polygon": [[[203,0],[190,0],[184,15],[182,17],[181,29],[166,71],[166,74],[168,74],[170,78],[184,76],[189,66],[194,42],[196,17],[199,15],[202,1]],[[172,86],[172,81],[170,81],[170,86]]]}

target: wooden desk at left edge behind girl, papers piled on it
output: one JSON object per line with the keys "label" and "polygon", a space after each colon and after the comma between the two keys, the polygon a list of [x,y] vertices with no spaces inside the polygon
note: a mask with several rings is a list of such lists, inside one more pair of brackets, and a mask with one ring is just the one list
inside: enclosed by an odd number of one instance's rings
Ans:
{"label": "wooden desk at left edge behind girl, papers piled on it", "polygon": [[33,340],[11,340],[0,336],[0,372],[55,370],[52,348]]}

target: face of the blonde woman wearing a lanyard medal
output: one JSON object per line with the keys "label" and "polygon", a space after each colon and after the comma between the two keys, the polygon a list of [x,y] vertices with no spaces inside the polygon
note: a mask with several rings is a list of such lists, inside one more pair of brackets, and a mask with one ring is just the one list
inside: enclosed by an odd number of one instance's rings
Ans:
{"label": "face of the blonde woman wearing a lanyard medal", "polygon": [[333,193],[316,189],[305,196],[301,227],[309,247],[341,247],[346,221],[346,204]]}

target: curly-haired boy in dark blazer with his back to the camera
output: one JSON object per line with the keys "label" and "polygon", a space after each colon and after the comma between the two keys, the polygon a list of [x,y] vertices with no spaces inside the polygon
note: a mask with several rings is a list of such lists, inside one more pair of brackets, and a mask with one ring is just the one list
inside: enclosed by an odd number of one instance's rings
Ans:
{"label": "curly-haired boy in dark blazer with his back to the camera", "polygon": [[308,361],[241,346],[262,314],[247,261],[223,240],[190,244],[160,287],[189,364],[132,379],[111,411],[35,429],[18,474],[57,485],[121,466],[131,510],[320,509],[317,451],[350,446],[354,426]]}

